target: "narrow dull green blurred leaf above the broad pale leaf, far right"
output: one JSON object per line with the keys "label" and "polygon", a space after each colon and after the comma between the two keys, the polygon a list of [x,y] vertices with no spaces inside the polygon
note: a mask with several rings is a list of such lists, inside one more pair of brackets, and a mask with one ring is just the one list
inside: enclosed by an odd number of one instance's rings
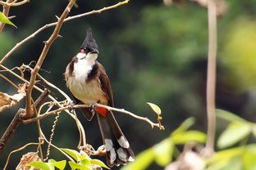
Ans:
{"label": "narrow dull green blurred leaf above the broad pale leaf, far right", "polygon": [[247,120],[242,119],[239,116],[226,110],[216,110],[216,114],[218,118],[227,120],[229,122],[248,122]]}

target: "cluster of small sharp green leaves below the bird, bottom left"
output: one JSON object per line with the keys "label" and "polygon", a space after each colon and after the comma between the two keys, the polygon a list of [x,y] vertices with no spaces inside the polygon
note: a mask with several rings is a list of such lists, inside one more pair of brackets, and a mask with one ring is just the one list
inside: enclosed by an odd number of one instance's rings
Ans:
{"label": "cluster of small sharp green leaves below the bird, bottom left", "polygon": [[[71,169],[75,170],[75,169],[80,169],[80,170],[91,170],[93,169],[93,165],[98,165],[100,167],[103,168],[107,168],[107,165],[105,165],[105,163],[103,163],[102,161],[98,160],[98,159],[90,159],[88,154],[80,154],[78,151],[76,150],[71,150],[71,149],[61,149],[64,152],[66,152],[66,154],[68,154],[69,156],[71,156],[72,159],[74,159],[75,161],[69,161],[68,164],[71,167]],[[34,168],[40,168],[42,170],[54,170],[55,168],[58,168],[60,170],[63,170],[66,167],[66,160],[62,160],[62,161],[55,161],[53,159],[49,159],[48,163],[43,163],[40,161],[36,161],[33,163],[29,163],[27,164],[27,166],[32,166]]]}

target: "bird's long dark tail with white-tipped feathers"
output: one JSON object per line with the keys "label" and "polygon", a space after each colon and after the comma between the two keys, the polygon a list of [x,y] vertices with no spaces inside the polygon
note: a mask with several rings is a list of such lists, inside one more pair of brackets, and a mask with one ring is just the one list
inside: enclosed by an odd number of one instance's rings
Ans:
{"label": "bird's long dark tail with white-tipped feathers", "polygon": [[103,144],[107,150],[107,165],[119,166],[134,161],[135,154],[130,149],[130,144],[121,132],[112,111],[107,111],[106,116],[97,114],[97,117]]}

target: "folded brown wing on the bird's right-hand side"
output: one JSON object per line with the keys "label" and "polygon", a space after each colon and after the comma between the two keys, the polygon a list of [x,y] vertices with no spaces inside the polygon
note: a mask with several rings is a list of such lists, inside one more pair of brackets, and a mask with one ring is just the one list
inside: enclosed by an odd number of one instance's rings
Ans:
{"label": "folded brown wing on the bird's right-hand side", "polygon": [[104,69],[103,65],[101,65],[98,61],[96,61],[96,65],[98,65],[98,79],[101,83],[103,92],[105,92],[107,96],[108,105],[113,107],[114,101],[112,87],[107,77],[106,70]]}

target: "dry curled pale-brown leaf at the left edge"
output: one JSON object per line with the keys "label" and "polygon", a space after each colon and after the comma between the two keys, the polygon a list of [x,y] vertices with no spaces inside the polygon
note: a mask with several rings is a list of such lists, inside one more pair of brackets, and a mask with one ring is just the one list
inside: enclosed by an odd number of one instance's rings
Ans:
{"label": "dry curled pale-brown leaf at the left edge", "polygon": [[0,112],[20,102],[21,99],[25,97],[25,87],[25,84],[20,84],[18,93],[12,96],[7,93],[0,92]]}

